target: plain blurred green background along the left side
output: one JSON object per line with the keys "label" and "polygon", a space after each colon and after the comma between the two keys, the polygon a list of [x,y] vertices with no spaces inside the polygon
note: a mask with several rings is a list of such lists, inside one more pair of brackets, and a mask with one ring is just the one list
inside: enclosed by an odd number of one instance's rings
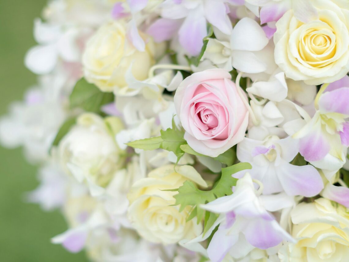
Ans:
{"label": "plain blurred green background along the left side", "polygon": [[[0,0],[0,115],[12,101],[22,100],[36,76],[24,67],[25,52],[33,45],[33,21],[46,0]],[[58,211],[44,212],[24,203],[24,193],[36,188],[37,167],[29,165],[21,148],[0,146],[0,261],[87,261],[84,253],[70,254],[50,239],[67,229]]]}

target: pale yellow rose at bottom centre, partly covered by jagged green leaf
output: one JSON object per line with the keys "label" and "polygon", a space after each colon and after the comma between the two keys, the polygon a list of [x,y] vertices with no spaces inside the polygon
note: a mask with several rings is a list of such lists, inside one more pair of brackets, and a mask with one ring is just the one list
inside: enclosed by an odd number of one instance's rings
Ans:
{"label": "pale yellow rose at bottom centre, partly covered by jagged green leaf", "polygon": [[171,244],[201,234],[202,225],[195,219],[186,222],[191,207],[179,212],[179,206],[172,206],[177,192],[162,191],[179,188],[187,180],[207,186],[192,166],[177,166],[175,171],[174,165],[154,169],[133,184],[128,194],[128,219],[143,238]]}

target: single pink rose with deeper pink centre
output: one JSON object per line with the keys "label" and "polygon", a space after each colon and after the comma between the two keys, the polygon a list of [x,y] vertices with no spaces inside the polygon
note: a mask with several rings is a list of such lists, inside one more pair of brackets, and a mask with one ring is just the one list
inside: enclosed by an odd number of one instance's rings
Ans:
{"label": "single pink rose with deeper pink centre", "polygon": [[230,79],[224,69],[194,73],[174,95],[184,138],[198,153],[217,157],[245,136],[248,111]]}

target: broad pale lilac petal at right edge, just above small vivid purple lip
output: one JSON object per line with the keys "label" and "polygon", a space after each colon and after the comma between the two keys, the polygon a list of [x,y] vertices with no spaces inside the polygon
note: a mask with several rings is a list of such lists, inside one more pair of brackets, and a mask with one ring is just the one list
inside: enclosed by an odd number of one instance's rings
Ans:
{"label": "broad pale lilac petal at right edge, just above small vivid purple lip", "polygon": [[319,109],[323,113],[336,112],[349,115],[349,87],[341,87],[326,92],[319,99]]}

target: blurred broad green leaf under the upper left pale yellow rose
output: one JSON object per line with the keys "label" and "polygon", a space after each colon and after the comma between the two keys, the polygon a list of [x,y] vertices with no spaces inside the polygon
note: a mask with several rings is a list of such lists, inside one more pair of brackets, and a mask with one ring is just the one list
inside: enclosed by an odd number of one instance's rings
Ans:
{"label": "blurred broad green leaf under the upper left pale yellow rose", "polygon": [[69,96],[70,108],[82,108],[88,112],[100,113],[102,105],[114,101],[113,93],[102,92],[94,84],[84,78],[77,81],[73,92]]}

